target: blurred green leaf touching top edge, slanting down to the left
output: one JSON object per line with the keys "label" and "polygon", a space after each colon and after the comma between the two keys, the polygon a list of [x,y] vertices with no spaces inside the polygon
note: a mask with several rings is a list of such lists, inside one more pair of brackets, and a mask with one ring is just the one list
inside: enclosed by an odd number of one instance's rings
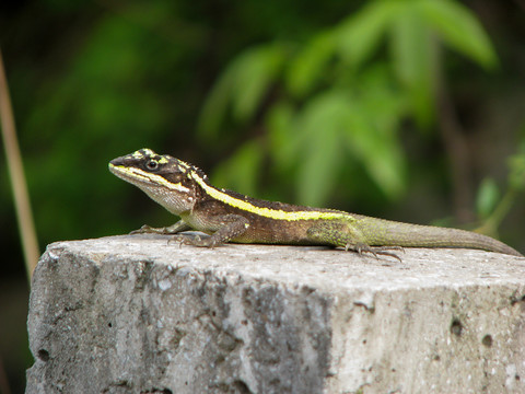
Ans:
{"label": "blurred green leaf touching top edge, slanting down to the left", "polygon": [[347,63],[357,68],[370,59],[399,4],[388,0],[369,2],[336,27],[338,50]]}

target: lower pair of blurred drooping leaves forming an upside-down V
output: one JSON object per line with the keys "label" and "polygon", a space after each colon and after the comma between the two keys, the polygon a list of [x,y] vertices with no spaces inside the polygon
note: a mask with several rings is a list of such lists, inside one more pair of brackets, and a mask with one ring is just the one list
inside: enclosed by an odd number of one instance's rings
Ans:
{"label": "lower pair of blurred drooping leaves forming an upside-down V", "polygon": [[325,202],[341,162],[350,157],[386,196],[396,198],[404,190],[405,158],[396,136],[404,105],[388,91],[384,72],[366,73],[360,88],[355,97],[340,90],[322,93],[299,114],[296,128],[304,136],[298,159],[301,201]]}

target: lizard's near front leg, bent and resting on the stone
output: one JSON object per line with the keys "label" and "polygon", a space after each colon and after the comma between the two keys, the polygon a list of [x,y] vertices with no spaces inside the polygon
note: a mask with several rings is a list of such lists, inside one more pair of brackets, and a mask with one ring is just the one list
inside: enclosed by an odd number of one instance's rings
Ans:
{"label": "lizard's near front leg, bent and resting on the stone", "polygon": [[175,235],[173,240],[180,241],[187,245],[215,247],[243,235],[249,228],[249,221],[240,215],[214,217],[210,219],[210,223],[213,227],[218,227],[218,230],[211,236],[201,239],[199,235],[194,237]]}

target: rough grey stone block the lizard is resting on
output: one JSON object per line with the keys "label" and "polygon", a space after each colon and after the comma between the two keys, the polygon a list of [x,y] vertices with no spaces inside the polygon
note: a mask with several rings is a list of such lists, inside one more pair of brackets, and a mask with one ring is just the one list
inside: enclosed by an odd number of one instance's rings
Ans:
{"label": "rough grey stone block the lizard is resting on", "polygon": [[525,393],[525,258],[48,246],[26,393]]}

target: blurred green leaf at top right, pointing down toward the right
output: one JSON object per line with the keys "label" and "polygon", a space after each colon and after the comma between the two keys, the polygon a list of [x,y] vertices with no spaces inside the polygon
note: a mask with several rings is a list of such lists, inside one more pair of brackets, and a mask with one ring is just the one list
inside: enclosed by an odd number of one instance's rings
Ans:
{"label": "blurred green leaf at top right, pointing down toward the right", "polygon": [[440,37],[485,68],[497,65],[490,39],[476,15],[458,1],[419,0],[418,8]]}

